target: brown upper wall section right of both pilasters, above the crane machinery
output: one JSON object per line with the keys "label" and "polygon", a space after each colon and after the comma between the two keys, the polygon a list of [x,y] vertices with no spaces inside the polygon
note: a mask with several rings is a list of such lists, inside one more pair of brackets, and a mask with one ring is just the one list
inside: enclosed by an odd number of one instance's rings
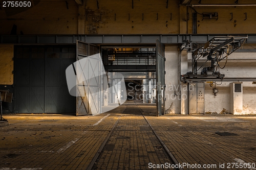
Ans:
{"label": "brown upper wall section right of both pilasters, above the crane machinery", "polygon": [[[198,4],[198,0],[190,4]],[[235,4],[234,0],[226,1],[205,1],[202,4]],[[238,1],[239,4],[256,4],[253,0]],[[251,7],[188,7],[188,33],[192,33],[192,13],[197,14],[197,34],[255,34],[256,27],[256,6]],[[218,20],[203,19],[202,13],[218,12]],[[232,13],[232,15],[231,15]],[[246,14],[245,14],[246,13]],[[246,18],[247,15],[247,18]]]}

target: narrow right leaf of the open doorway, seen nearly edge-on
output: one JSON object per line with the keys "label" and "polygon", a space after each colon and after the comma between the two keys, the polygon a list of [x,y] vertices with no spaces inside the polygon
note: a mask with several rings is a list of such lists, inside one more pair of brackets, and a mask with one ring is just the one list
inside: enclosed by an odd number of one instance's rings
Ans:
{"label": "narrow right leaf of the open doorway, seen nearly edge-on", "polygon": [[157,57],[157,116],[165,113],[165,57],[164,44],[159,40],[156,42]]}

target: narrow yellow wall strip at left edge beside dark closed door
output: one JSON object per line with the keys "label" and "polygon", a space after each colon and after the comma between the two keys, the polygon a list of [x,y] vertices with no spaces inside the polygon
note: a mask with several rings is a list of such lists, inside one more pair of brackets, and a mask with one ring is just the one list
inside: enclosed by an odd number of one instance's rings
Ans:
{"label": "narrow yellow wall strip at left edge beside dark closed door", "polygon": [[13,84],[13,45],[0,45],[0,84]]}

